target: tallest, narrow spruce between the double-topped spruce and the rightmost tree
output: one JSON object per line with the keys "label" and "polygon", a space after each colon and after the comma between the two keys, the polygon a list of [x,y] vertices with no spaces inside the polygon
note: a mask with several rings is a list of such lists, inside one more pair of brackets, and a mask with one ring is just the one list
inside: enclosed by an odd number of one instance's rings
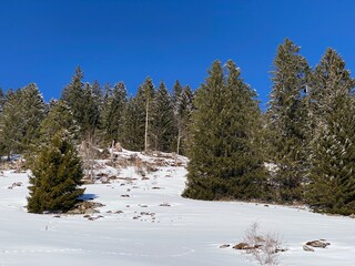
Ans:
{"label": "tallest, narrow spruce between the double-topped spruce and the rightmost tree", "polygon": [[304,90],[308,64],[300,48],[288,39],[277,48],[272,71],[273,89],[267,116],[272,146],[271,157],[278,166],[274,180],[278,201],[300,201],[306,171],[308,114]]}

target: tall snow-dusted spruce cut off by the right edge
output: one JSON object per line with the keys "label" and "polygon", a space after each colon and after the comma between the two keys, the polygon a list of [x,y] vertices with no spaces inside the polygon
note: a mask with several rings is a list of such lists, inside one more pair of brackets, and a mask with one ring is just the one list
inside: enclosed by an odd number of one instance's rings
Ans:
{"label": "tall snow-dusted spruce cut off by the right edge", "polygon": [[306,201],[318,212],[355,209],[355,81],[345,62],[327,49],[312,75],[314,119]]}

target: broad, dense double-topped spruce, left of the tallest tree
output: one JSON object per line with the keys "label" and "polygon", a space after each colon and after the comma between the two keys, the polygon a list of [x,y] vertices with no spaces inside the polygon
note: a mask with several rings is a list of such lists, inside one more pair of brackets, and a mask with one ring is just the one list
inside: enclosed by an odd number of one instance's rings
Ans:
{"label": "broad, dense double-topped spruce, left of the tallest tree", "polygon": [[263,198],[265,171],[253,142],[260,116],[255,92],[232,61],[213,63],[192,114],[187,183],[183,196]]}

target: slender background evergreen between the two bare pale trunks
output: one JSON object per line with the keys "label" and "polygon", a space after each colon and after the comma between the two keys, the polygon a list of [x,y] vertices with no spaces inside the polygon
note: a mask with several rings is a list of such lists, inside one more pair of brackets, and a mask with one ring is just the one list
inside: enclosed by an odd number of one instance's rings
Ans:
{"label": "slender background evergreen between the two bare pale trunks", "polygon": [[152,139],[155,151],[170,152],[176,135],[171,96],[161,82],[152,108]]}

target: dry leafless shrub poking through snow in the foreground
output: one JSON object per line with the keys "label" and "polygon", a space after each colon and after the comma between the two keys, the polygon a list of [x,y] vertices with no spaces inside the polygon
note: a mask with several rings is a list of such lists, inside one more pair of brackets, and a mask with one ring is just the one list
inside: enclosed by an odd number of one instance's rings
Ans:
{"label": "dry leafless shrub poking through snow in the foreground", "polygon": [[285,252],[276,233],[260,233],[257,223],[253,223],[245,232],[244,242],[251,248],[245,249],[260,265],[277,266],[280,252]]}

